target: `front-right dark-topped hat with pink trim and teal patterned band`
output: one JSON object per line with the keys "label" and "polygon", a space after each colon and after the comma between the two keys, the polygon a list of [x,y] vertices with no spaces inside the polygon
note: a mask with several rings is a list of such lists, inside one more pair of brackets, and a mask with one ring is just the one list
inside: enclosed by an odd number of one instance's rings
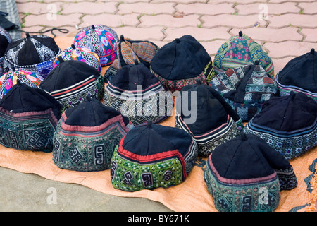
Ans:
{"label": "front-right dark-topped hat with pink trim and teal patterned band", "polygon": [[297,186],[290,162],[261,138],[244,133],[213,150],[204,180],[220,212],[271,212],[280,191]]}

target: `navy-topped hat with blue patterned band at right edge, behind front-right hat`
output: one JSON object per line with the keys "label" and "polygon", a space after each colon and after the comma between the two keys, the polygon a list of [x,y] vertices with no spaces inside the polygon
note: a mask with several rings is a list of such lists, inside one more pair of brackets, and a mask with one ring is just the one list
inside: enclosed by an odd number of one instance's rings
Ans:
{"label": "navy-topped hat with blue patterned band at right edge, behind front-right hat", "polygon": [[317,145],[317,102],[304,93],[273,97],[244,127],[287,160]]}

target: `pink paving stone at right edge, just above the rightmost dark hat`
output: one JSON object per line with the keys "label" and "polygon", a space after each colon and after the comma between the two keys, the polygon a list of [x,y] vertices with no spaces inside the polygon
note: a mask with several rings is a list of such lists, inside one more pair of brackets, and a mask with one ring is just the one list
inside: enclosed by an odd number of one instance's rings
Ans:
{"label": "pink paving stone at right edge, just above the rightmost dark hat", "polygon": [[316,48],[316,44],[311,42],[296,41],[286,41],[279,43],[266,42],[263,47],[268,49],[268,55],[270,57],[280,59],[283,57],[297,57],[302,54],[306,54],[307,52],[311,51],[311,48]]}

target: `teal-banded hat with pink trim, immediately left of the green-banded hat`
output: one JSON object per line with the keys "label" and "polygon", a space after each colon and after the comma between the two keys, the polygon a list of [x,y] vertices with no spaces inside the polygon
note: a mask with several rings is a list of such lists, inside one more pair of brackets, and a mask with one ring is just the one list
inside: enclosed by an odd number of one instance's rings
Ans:
{"label": "teal-banded hat with pink trim, immediately left of the green-banded hat", "polygon": [[54,163],[61,169],[84,172],[110,169],[113,150],[130,129],[127,117],[88,96],[63,112],[58,121]]}

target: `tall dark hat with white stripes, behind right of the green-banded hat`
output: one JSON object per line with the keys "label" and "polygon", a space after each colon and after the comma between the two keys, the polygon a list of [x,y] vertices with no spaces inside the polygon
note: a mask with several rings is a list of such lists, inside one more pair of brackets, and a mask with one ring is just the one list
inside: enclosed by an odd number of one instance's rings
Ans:
{"label": "tall dark hat with white stripes, behind right of the green-banded hat", "polygon": [[[187,114],[189,109],[191,114]],[[187,131],[199,155],[207,157],[218,145],[238,136],[243,124],[216,90],[197,81],[185,85],[176,99],[175,127]]]}

